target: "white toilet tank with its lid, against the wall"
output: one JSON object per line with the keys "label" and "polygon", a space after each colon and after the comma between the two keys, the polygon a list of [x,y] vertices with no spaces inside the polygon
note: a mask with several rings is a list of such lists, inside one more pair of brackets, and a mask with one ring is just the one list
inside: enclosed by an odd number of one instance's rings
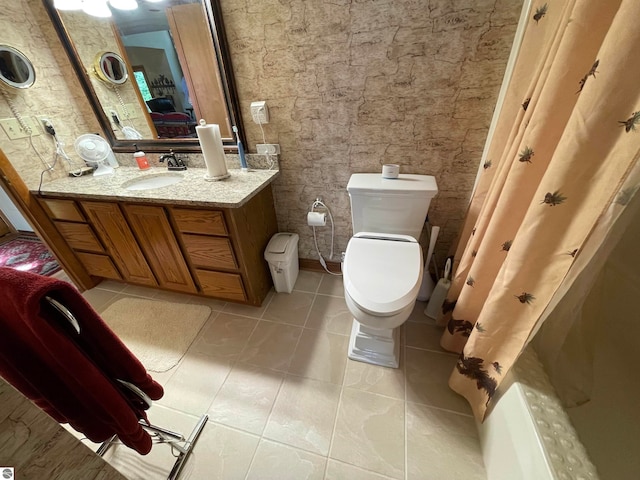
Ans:
{"label": "white toilet tank with its lid, against the wall", "polygon": [[354,173],[347,184],[353,233],[377,232],[411,235],[418,240],[431,199],[438,193],[430,175]]}

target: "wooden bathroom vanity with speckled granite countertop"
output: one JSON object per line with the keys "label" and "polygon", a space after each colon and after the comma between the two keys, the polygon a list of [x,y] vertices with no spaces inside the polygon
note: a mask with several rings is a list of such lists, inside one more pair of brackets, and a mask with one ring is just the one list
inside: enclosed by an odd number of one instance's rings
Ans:
{"label": "wooden bathroom vanity with speckled granite countertop", "polygon": [[93,277],[260,305],[272,284],[263,252],[277,232],[278,172],[229,170],[221,182],[205,172],[120,167],[53,181],[38,201]]}

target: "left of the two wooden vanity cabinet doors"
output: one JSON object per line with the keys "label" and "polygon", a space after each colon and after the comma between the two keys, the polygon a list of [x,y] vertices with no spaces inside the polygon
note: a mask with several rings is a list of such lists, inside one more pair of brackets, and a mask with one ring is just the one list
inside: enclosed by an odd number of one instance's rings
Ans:
{"label": "left of the two wooden vanity cabinet doors", "polygon": [[115,203],[82,202],[93,229],[106,246],[125,282],[157,286],[124,215]]}

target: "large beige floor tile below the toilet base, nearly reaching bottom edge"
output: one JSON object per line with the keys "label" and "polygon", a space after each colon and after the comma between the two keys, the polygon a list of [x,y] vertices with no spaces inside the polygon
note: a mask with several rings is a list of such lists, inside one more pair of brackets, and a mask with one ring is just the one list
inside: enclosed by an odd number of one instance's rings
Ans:
{"label": "large beige floor tile below the toilet base, nearly reaching bottom edge", "polygon": [[329,457],[404,478],[404,402],[345,388]]}

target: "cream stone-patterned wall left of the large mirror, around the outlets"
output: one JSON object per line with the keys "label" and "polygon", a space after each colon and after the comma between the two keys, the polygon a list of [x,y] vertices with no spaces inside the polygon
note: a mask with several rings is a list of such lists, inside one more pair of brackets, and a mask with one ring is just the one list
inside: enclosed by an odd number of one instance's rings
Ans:
{"label": "cream stone-patterned wall left of the large mirror, around the outlets", "polygon": [[[75,154],[75,139],[84,133],[99,132],[100,125],[42,2],[0,0],[0,9],[0,43],[24,53],[36,71],[36,82],[31,88],[8,91],[8,96],[23,117],[42,115],[54,123],[58,138],[65,144],[64,150],[77,163],[69,165],[59,159],[53,170],[42,174],[42,180],[63,177],[67,171],[84,165]],[[11,117],[8,103],[0,97],[0,118]],[[31,141],[9,140],[0,129],[0,148],[27,186],[37,189],[41,173],[52,164],[55,147],[49,135],[33,136]]]}

